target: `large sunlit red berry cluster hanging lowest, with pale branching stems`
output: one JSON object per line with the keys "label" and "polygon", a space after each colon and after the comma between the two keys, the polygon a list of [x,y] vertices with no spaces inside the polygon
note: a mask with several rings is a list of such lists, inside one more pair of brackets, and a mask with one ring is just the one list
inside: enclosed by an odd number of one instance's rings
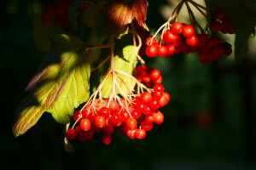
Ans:
{"label": "large sunlit red berry cluster hanging lowest, with pale branching stems", "polygon": [[[127,95],[120,99],[92,99],[81,111],[73,114],[73,127],[67,130],[67,139],[78,138],[84,142],[93,138],[95,133],[102,131],[102,142],[110,144],[114,128],[130,139],[144,139],[146,132],[152,130],[153,123],[160,124],[164,115],[159,108],[165,106],[170,95],[164,92],[160,84],[160,71],[148,68],[145,65],[137,67],[137,94]],[[144,78],[149,76],[148,78]],[[145,81],[147,79],[147,81]],[[148,80],[150,81],[148,82]],[[153,89],[141,87],[144,82]],[[141,89],[141,93],[139,92]]]}

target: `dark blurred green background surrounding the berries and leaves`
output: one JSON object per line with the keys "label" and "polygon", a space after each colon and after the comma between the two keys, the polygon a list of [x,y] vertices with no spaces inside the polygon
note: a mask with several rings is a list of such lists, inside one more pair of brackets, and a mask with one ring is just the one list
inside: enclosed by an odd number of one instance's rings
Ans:
{"label": "dark blurred green background surrounding the berries and leaves", "polygon": [[[162,110],[165,122],[154,126],[146,139],[131,140],[119,132],[113,143],[101,135],[75,143],[75,152],[63,147],[64,126],[45,113],[27,133],[15,138],[15,109],[45,52],[32,38],[28,3],[1,4],[1,123],[2,166],[13,169],[256,169],[256,61],[255,37],[247,59],[236,65],[234,56],[201,65],[195,55],[148,59],[162,71],[171,94]],[[43,2],[43,1],[42,1]],[[45,2],[44,2],[45,3]],[[149,1],[148,27],[165,20],[160,3]]]}

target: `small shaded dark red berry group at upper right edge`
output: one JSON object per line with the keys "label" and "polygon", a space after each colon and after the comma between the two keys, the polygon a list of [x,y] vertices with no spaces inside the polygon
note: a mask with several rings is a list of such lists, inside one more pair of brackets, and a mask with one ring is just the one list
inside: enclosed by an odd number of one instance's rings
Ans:
{"label": "small shaded dark red berry group at upper right edge", "polygon": [[215,11],[215,20],[212,22],[212,31],[221,31],[224,34],[235,34],[236,29],[232,28],[233,22],[230,19],[225,18],[226,13],[223,8],[218,8]]}

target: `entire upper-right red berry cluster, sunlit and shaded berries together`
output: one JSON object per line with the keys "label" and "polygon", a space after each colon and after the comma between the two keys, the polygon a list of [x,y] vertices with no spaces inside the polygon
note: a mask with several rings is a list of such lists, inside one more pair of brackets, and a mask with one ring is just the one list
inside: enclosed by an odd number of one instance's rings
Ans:
{"label": "entire upper-right red berry cluster, sunlit and shaded berries together", "polygon": [[[195,2],[193,2],[193,4],[195,6],[198,5]],[[181,8],[181,6],[178,7]],[[191,10],[189,10],[189,13],[193,14]],[[198,52],[201,64],[207,64],[208,60],[215,61],[223,55],[229,56],[232,54],[232,46],[230,43],[224,41],[219,34],[219,31],[224,34],[236,33],[236,29],[232,27],[232,20],[225,18],[223,8],[216,10],[215,20],[212,22],[212,25],[210,27],[207,26],[206,29],[202,29],[201,26],[198,25],[195,21],[194,14],[193,17],[190,18],[193,19],[192,25],[186,25],[177,21],[170,24],[175,18],[177,19],[177,15],[171,17],[160,27],[153,37],[148,37],[145,41],[147,45],[145,52],[149,58],[154,58],[157,55],[160,57],[171,57],[174,54]],[[197,33],[195,26],[201,29],[200,34]],[[210,28],[212,31],[209,31]],[[155,37],[161,29],[163,29],[161,37],[156,41]]]}

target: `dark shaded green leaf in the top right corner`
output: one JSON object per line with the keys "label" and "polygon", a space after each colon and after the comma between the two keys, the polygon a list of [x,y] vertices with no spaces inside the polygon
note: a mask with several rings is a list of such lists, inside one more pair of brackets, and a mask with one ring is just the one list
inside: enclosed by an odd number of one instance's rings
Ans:
{"label": "dark shaded green leaf in the top right corner", "polygon": [[[252,0],[206,0],[209,22],[214,19],[216,8],[224,8],[226,17],[233,21],[236,28],[235,59],[241,62],[247,56],[247,39],[255,34],[256,10]],[[220,6],[221,4],[221,6]]]}

